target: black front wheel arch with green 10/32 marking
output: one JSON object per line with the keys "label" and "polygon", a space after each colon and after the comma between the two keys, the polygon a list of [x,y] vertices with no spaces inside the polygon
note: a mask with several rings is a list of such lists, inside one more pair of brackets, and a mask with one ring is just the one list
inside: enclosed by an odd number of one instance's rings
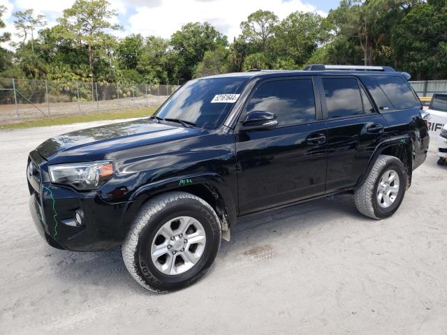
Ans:
{"label": "black front wheel arch with green 10/32 marking", "polygon": [[[185,180],[188,180],[187,184],[182,183]],[[131,201],[124,209],[122,225],[116,233],[116,238],[124,239],[143,204],[156,195],[170,191],[191,193],[210,204],[221,221],[222,238],[230,240],[230,228],[237,217],[236,202],[228,184],[219,174],[214,173],[184,175],[141,186],[133,193]]]}

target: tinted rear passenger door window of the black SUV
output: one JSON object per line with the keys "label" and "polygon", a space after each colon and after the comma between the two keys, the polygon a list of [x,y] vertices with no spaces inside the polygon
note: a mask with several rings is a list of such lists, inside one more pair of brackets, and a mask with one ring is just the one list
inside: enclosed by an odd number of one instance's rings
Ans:
{"label": "tinted rear passenger door window of the black SUV", "polygon": [[353,78],[323,78],[328,118],[363,114],[358,82]]}

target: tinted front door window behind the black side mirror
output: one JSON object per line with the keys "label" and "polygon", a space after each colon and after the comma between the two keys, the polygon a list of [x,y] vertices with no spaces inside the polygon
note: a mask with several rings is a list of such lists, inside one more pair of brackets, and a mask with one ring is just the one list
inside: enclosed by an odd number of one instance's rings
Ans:
{"label": "tinted front door window behind the black side mirror", "polygon": [[276,114],[279,126],[314,121],[315,97],[312,80],[275,80],[261,84],[247,105],[247,112],[254,110]]}

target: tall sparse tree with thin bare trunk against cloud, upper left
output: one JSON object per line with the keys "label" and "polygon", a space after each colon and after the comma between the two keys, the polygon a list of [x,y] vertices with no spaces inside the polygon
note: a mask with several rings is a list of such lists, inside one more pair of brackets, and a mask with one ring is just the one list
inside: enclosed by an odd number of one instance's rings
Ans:
{"label": "tall sparse tree with thin bare trunk against cloud, upper left", "polygon": [[109,6],[106,0],[76,0],[58,20],[61,36],[75,40],[80,46],[87,45],[91,80],[94,79],[94,51],[101,47],[104,29],[120,29],[118,24],[109,22],[117,16],[116,11],[109,9]]}

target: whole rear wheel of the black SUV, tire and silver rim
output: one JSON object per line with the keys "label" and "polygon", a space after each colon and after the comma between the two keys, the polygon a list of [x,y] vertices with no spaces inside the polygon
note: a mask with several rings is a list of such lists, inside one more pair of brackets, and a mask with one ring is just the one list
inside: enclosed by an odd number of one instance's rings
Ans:
{"label": "whole rear wheel of the black SUV, tire and silver rim", "polygon": [[367,179],[356,189],[358,211],[376,219],[393,215],[404,199],[407,180],[406,168],[399,159],[380,155]]}

